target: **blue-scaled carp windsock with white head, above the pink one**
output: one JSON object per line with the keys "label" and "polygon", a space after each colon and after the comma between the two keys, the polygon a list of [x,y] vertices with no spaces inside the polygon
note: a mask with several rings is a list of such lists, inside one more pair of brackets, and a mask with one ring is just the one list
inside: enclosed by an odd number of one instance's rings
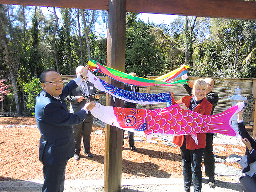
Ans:
{"label": "blue-scaled carp windsock with white head, above the pink one", "polygon": [[103,92],[106,92],[113,96],[113,98],[119,98],[127,102],[133,102],[138,104],[158,104],[161,102],[171,102],[172,96],[170,92],[167,93],[140,93],[134,91],[128,91],[112,86],[111,84],[96,77],[92,72],[88,71],[88,81]]}

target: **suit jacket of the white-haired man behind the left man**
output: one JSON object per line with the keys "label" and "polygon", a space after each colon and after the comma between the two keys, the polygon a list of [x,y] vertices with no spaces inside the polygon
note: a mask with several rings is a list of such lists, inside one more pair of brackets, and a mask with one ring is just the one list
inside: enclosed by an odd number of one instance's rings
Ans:
{"label": "suit jacket of the white-haired man behind the left man", "polygon": [[[97,90],[94,87],[94,85],[91,82],[86,83],[88,87],[88,94],[96,93]],[[77,88],[71,91],[71,93],[66,96],[65,100],[70,102],[70,113],[76,113],[80,111],[84,105],[86,104],[86,99],[82,100],[81,102],[77,102],[77,96],[82,96],[83,89],[82,89],[82,83],[78,85]],[[89,98],[90,101],[96,101],[94,98]]]}

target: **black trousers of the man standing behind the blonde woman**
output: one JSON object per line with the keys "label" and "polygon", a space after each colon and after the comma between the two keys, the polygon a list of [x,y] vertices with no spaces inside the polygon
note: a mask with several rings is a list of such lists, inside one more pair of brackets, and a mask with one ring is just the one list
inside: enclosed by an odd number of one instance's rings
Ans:
{"label": "black trousers of the man standing behind the blonde woman", "polygon": [[215,158],[213,154],[213,133],[206,133],[205,141],[206,147],[204,148],[204,170],[208,177],[214,176]]}

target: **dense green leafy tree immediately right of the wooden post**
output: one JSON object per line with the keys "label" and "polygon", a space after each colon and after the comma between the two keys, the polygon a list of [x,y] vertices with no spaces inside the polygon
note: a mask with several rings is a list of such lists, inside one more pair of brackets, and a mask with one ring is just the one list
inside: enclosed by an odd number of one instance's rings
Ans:
{"label": "dense green leafy tree immediately right of the wooden post", "polygon": [[150,24],[136,21],[138,14],[127,14],[125,71],[135,72],[137,76],[162,74],[164,55],[154,44]]}

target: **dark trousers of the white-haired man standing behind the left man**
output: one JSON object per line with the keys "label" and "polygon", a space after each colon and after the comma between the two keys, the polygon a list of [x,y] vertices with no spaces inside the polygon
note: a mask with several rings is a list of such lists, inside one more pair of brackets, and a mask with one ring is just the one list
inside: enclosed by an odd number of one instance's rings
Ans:
{"label": "dark trousers of the white-haired man standing behind the left man", "polygon": [[88,113],[88,117],[84,122],[73,126],[74,139],[75,139],[75,154],[79,155],[81,152],[82,135],[83,135],[84,153],[90,152],[92,124],[93,124],[93,116],[91,113]]}

